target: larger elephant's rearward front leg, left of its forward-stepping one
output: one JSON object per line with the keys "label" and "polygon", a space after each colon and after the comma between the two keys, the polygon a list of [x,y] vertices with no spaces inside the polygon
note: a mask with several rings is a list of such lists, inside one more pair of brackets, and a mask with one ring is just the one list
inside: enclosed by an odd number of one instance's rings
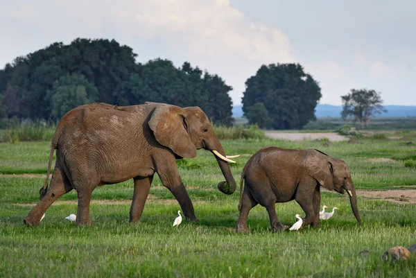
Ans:
{"label": "larger elephant's rearward front leg, left of its forward-stepping one", "polygon": [[140,222],[144,205],[150,191],[153,175],[135,179],[135,192],[133,193],[132,207],[130,208],[130,222]]}

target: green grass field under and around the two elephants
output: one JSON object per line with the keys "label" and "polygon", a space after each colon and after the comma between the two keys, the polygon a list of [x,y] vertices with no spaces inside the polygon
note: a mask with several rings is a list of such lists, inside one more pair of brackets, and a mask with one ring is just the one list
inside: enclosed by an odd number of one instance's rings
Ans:
{"label": "green grass field under and around the two elephants", "polygon": [[[389,139],[392,137],[393,139]],[[358,144],[322,141],[237,139],[222,141],[236,181],[245,162],[264,146],[318,148],[344,159],[357,189],[415,189],[416,132],[359,139]],[[413,144],[406,144],[412,141]],[[389,158],[389,162],[369,160]],[[0,173],[44,174],[49,141],[0,144]],[[157,177],[140,224],[128,223],[132,181],[106,185],[93,193],[91,227],[76,227],[64,217],[76,214],[76,192],[46,211],[40,227],[23,218],[37,202],[44,175],[0,175],[0,277],[415,277],[416,259],[385,262],[395,245],[416,243],[416,205],[359,197],[363,225],[356,223],[346,195],[322,193],[322,205],[340,208],[320,228],[299,233],[270,231],[268,214],[254,207],[250,234],[236,234],[238,190],[226,196],[214,157],[198,150],[178,161],[200,223],[171,227],[180,206]],[[107,200],[107,202],[98,200]],[[276,205],[282,223],[303,213],[296,202]],[[368,250],[360,254],[361,251]]]}

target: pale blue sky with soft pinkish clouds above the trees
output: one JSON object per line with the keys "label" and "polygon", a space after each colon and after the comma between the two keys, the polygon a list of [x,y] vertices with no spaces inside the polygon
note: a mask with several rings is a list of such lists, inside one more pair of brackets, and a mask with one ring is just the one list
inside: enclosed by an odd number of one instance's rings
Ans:
{"label": "pale blue sky with soft pinkish clouds above the trees", "polygon": [[221,76],[241,104],[262,64],[297,62],[320,103],[375,89],[385,105],[416,105],[416,1],[71,0],[0,2],[0,68],[77,37],[116,40],[138,62],[188,61]]}

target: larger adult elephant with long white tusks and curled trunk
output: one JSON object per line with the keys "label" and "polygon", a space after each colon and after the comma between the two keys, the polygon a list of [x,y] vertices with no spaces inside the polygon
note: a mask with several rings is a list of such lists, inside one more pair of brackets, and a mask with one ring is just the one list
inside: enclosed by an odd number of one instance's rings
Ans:
{"label": "larger adult elephant with long white tusks and curled trunk", "polygon": [[[64,193],[78,193],[76,223],[89,225],[89,202],[96,186],[135,181],[130,221],[139,221],[153,175],[159,175],[179,202],[188,220],[198,221],[181,180],[175,159],[196,157],[205,148],[216,156],[226,182],[218,189],[226,194],[236,190],[236,182],[223,146],[207,115],[200,107],[181,108],[164,103],[117,107],[93,103],[67,112],[51,142],[48,173],[40,189],[40,202],[24,223],[39,225],[49,206]],[[53,152],[56,162],[48,188]]]}

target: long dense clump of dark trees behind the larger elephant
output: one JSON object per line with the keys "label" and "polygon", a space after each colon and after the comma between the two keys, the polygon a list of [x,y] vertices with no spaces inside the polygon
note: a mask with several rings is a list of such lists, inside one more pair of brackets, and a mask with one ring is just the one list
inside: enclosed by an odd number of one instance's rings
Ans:
{"label": "long dense clump of dark trees behind the larger elephant", "polygon": [[0,70],[0,116],[60,119],[85,103],[135,105],[145,101],[200,106],[214,123],[232,122],[232,87],[218,75],[184,62],[136,62],[115,40],[77,39],[16,58]]}

